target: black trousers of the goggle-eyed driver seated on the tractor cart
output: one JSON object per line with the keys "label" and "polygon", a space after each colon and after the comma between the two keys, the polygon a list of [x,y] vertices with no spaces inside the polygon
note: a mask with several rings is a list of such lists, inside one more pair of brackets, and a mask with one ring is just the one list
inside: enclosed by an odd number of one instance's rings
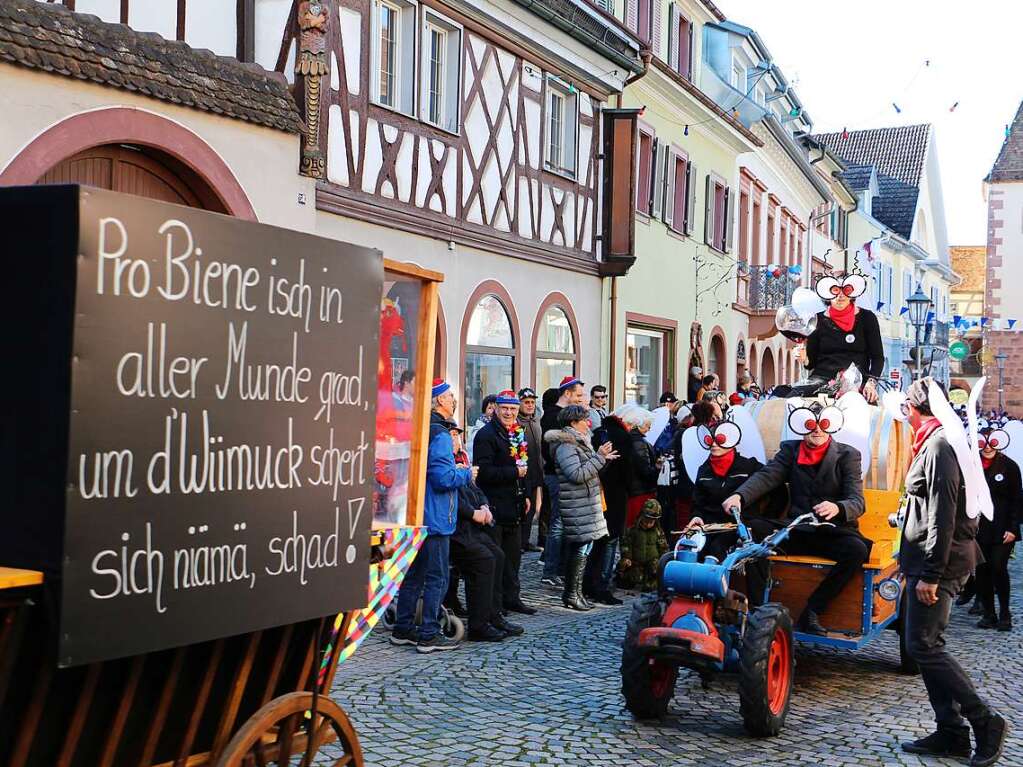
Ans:
{"label": "black trousers of the goggle-eyed driver seated on the tractor cart", "polygon": [[[785,521],[757,518],[750,523],[750,527],[754,538],[760,541],[786,524]],[[781,551],[792,556],[819,556],[835,560],[831,572],[806,599],[806,608],[820,614],[862,569],[863,562],[871,557],[872,545],[850,530],[820,528],[804,531],[796,528],[782,544]]]}

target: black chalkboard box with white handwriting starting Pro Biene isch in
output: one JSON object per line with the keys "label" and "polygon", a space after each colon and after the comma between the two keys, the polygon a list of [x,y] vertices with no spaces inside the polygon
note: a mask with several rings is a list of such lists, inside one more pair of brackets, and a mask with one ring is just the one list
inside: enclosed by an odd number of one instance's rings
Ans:
{"label": "black chalkboard box with white handwriting starting Pro Biene isch in", "polygon": [[84,187],[0,189],[0,563],[59,561],[59,664],[363,606],[380,252]]}

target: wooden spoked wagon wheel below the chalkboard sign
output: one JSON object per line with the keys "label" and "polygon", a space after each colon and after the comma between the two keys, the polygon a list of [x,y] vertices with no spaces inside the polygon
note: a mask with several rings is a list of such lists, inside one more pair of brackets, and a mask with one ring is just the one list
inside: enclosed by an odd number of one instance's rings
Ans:
{"label": "wooden spoked wagon wheel below the chalkboard sign", "polygon": [[[344,710],[320,695],[316,701],[316,724],[311,726],[306,715],[312,706],[312,692],[275,697],[235,733],[216,767],[310,767],[320,748],[335,740],[339,742],[333,750],[340,748],[341,756],[329,763],[332,767],[362,767],[359,737]],[[315,734],[312,748],[310,732]]]}

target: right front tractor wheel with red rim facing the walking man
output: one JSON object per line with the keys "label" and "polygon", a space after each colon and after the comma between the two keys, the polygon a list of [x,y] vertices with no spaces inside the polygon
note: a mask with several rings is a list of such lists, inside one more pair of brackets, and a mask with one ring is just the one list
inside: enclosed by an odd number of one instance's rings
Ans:
{"label": "right front tractor wheel with red rim facing the walking man", "polygon": [[776,735],[789,713],[796,665],[792,618],[784,605],[763,604],[750,614],[739,661],[743,724],[756,737]]}

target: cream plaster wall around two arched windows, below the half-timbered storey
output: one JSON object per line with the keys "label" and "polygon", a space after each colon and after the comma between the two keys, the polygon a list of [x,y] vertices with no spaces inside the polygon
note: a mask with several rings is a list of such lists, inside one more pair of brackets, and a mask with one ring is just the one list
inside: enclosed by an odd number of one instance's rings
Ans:
{"label": "cream plaster wall around two arched windows, below the half-timbered storey", "polygon": [[462,245],[448,250],[444,240],[402,232],[386,226],[320,212],[316,216],[316,234],[348,242],[379,247],[385,258],[411,261],[444,274],[441,306],[447,323],[447,375],[457,390],[461,362],[461,318],[469,299],[484,280],[494,279],[504,285],[519,316],[516,344],[520,350],[516,386],[532,386],[530,346],[533,323],[543,300],[552,291],[565,294],[572,303],[578,321],[576,344],[581,352],[579,373],[587,384],[596,382],[601,365],[601,280],[595,276],[569,273],[555,267],[511,261],[486,251]]}

